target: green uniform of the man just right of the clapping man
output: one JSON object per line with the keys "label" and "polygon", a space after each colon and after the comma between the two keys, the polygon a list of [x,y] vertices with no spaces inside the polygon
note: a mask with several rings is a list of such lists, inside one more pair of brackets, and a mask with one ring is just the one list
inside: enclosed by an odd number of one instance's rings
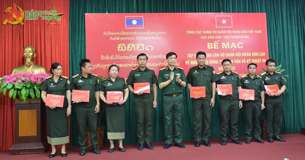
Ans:
{"label": "green uniform of the man just right of the clapping man", "polygon": [[212,108],[210,105],[213,96],[212,83],[217,80],[218,77],[214,68],[209,65],[204,65],[203,68],[199,68],[198,65],[191,67],[186,76],[186,82],[191,84],[192,87],[206,87],[206,97],[200,97],[200,99],[192,98],[195,141],[201,141],[201,139],[203,141],[209,141],[212,118]]}

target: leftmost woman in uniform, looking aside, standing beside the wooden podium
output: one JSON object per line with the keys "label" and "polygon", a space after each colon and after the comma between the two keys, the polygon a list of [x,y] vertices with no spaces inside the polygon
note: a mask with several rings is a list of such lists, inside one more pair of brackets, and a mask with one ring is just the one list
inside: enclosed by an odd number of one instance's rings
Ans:
{"label": "leftmost woman in uniform, looking aside, standing beside the wooden podium", "polygon": [[56,155],[56,145],[61,144],[61,156],[66,157],[66,143],[69,143],[69,118],[71,114],[71,92],[72,89],[68,77],[62,76],[62,66],[53,63],[50,71],[52,75],[45,78],[41,87],[41,99],[46,103],[47,94],[65,96],[63,107],[46,106],[47,112],[47,135],[48,143],[52,146],[49,158]]}

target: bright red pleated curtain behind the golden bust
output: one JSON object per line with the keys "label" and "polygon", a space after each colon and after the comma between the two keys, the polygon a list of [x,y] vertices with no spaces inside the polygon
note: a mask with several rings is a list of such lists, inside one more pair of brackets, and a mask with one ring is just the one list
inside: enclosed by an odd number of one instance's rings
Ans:
{"label": "bright red pleated curtain behind the golden bust", "polygon": [[[61,24],[49,24],[48,20],[26,20],[23,12],[23,25],[10,24],[5,19],[10,15],[4,10],[16,5],[16,11],[51,11],[64,13],[61,16]],[[24,64],[23,48],[32,45],[36,49],[37,56],[34,63],[49,70],[51,64],[58,62],[63,65],[62,75],[69,76],[69,1],[61,0],[5,0],[0,1],[1,24],[0,24],[0,76],[9,75],[14,67]],[[20,9],[19,9],[19,8]],[[11,9],[12,10],[12,9]],[[17,13],[16,12],[16,13]],[[17,15],[18,16],[18,15]],[[15,22],[16,19],[13,19]],[[0,95],[0,150],[9,150],[15,143],[15,100],[9,96]]]}

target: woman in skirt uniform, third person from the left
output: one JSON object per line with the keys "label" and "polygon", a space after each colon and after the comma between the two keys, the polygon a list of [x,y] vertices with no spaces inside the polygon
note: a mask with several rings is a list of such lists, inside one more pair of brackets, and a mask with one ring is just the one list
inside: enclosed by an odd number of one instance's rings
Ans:
{"label": "woman in skirt uniform, third person from the left", "polygon": [[[122,152],[126,151],[123,148],[123,139],[125,138],[125,106],[129,90],[125,79],[118,77],[119,68],[117,65],[111,65],[108,69],[109,77],[102,80],[100,97],[105,103],[106,120],[107,120],[107,136],[110,141],[110,149],[108,152],[114,151],[113,141],[119,141],[118,149]],[[112,100],[107,101],[107,91],[122,91],[123,101],[113,103]]]}

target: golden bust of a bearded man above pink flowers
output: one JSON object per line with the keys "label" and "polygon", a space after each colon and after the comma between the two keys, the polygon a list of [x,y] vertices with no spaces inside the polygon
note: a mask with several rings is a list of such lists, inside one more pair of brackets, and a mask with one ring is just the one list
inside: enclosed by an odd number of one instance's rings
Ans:
{"label": "golden bust of a bearded man above pink flowers", "polygon": [[34,57],[36,57],[36,50],[33,46],[26,46],[23,48],[23,57],[25,60],[25,64],[15,67],[12,71],[12,74],[14,73],[32,73],[32,70],[34,71],[34,74],[38,73],[48,73],[47,69],[43,66],[34,64]]}

